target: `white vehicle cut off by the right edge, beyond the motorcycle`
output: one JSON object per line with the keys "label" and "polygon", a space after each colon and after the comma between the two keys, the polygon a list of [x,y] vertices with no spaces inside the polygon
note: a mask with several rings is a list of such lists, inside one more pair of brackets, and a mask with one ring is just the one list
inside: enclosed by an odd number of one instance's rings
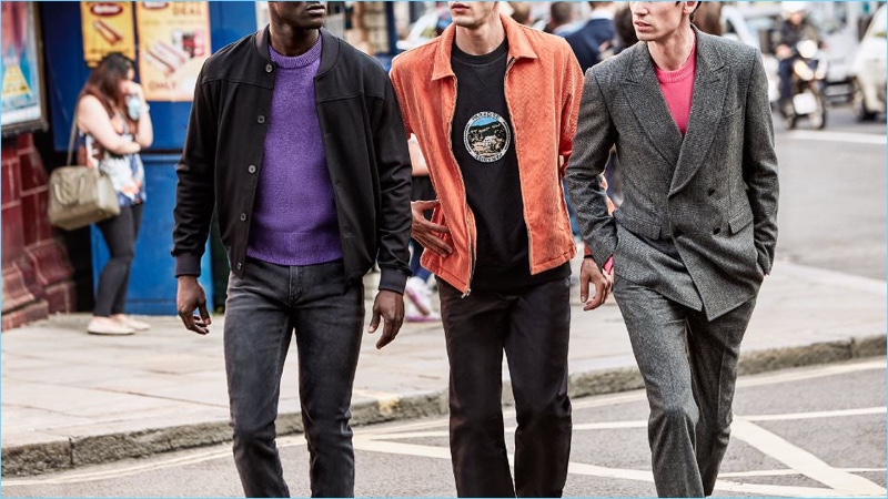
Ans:
{"label": "white vehicle cut off by the right edge, beyond the motorcycle", "polygon": [[882,6],[872,18],[851,62],[851,106],[860,121],[885,113],[887,45],[886,7]]}

